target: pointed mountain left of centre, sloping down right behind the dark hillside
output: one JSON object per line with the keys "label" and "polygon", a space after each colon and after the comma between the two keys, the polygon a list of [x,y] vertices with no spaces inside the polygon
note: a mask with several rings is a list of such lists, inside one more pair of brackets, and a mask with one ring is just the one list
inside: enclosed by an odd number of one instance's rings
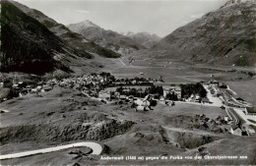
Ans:
{"label": "pointed mountain left of centre, sloping down right behind the dark hillside", "polygon": [[82,34],[84,37],[93,40],[96,44],[111,49],[122,55],[130,54],[133,51],[144,49],[145,47],[135,42],[130,37],[119,34],[112,30],[99,28],[90,21],[84,21],[68,26],[72,31]]}

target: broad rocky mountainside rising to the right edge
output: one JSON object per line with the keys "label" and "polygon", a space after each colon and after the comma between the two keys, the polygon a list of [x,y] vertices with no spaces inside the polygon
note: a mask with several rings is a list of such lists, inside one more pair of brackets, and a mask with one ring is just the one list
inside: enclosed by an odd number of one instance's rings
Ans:
{"label": "broad rocky mountainside rising to the right edge", "polygon": [[169,58],[256,66],[255,1],[224,5],[160,40],[151,51]]}

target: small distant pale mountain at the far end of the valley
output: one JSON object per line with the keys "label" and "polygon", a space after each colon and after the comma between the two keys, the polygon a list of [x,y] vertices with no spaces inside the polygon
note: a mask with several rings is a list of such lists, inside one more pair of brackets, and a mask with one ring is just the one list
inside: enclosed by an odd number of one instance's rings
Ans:
{"label": "small distant pale mountain at the far end of the valley", "polygon": [[126,36],[132,38],[134,41],[141,43],[147,48],[152,47],[160,41],[160,36],[157,34],[150,34],[149,32],[128,32]]}

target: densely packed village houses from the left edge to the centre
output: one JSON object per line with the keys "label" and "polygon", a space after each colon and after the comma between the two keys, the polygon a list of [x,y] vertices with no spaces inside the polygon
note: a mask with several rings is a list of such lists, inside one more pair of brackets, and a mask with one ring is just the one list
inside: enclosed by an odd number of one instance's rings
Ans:
{"label": "densely packed village houses from the left edge to the centre", "polygon": [[[132,95],[121,94],[116,91],[118,86],[132,86],[132,88],[137,88],[137,90],[141,93],[145,92],[145,88],[154,85],[155,83],[162,83],[162,77],[158,80],[153,79],[144,79],[144,78],[135,78],[135,79],[122,79],[116,80],[113,76],[108,73],[101,74],[90,74],[84,75],[82,77],[72,77],[66,79],[51,79],[47,82],[40,82],[35,84],[27,84],[20,82],[18,79],[13,80],[12,88],[14,91],[19,93],[19,96],[26,95],[28,93],[39,93],[44,91],[51,90],[54,85],[58,85],[60,87],[68,87],[75,88],[81,90],[83,93],[87,94],[91,97],[96,97],[103,102],[111,101],[112,99],[123,100],[123,101],[135,101],[137,106],[143,106],[144,110],[151,105],[155,105],[157,100],[160,103],[166,104],[166,96],[167,94],[174,94],[177,96],[177,100],[182,100],[181,97],[181,87],[178,84],[165,84],[162,85],[163,95],[156,97],[155,94],[151,94],[146,96],[144,99],[142,97],[135,97]],[[0,83],[3,86],[3,83]],[[130,90],[130,89],[123,89]],[[128,91],[127,91],[128,92]],[[198,100],[198,96],[194,95],[191,98],[195,98],[195,101]],[[205,101],[208,102],[208,101]],[[147,104],[145,104],[147,103]],[[149,104],[150,103],[150,104]],[[171,105],[174,105],[173,102]],[[142,110],[142,108],[140,108]]]}

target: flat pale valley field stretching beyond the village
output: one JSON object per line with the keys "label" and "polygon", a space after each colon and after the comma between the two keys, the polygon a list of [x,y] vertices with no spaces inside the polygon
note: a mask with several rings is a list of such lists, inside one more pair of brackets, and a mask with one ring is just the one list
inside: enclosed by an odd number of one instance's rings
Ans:
{"label": "flat pale valley field stretching beyond the village", "polygon": [[[197,83],[201,81],[218,80],[221,82],[235,81],[238,79],[247,80],[248,75],[236,73],[235,75],[230,72],[215,71],[211,67],[202,66],[195,67],[193,64],[185,64],[180,62],[166,63],[165,59],[146,59],[136,60],[134,63],[129,64],[129,61],[124,59],[124,62],[117,69],[111,70],[110,73],[118,79],[131,79],[131,78],[152,78],[159,79],[162,76],[163,81],[166,83]],[[116,63],[121,62],[115,61]],[[149,62],[148,62],[149,61]],[[231,68],[229,68],[230,70]],[[143,75],[141,75],[143,73]]]}

